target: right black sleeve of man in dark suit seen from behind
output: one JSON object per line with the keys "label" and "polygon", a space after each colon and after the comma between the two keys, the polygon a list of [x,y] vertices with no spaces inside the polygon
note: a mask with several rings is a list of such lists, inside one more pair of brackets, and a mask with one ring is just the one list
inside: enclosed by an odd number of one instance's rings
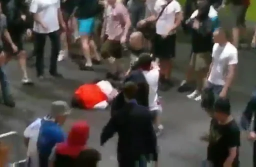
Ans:
{"label": "right black sleeve of man in dark suit seen from behind", "polygon": [[145,127],[146,127],[146,136],[147,136],[147,148],[150,160],[157,161],[158,159],[158,150],[157,150],[157,138],[154,131],[152,118],[149,110],[145,110],[148,114],[145,114]]}

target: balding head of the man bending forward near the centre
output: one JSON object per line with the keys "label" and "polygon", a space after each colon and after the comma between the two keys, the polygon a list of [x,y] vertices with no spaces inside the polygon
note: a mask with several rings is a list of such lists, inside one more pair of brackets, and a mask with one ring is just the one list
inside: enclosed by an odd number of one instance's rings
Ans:
{"label": "balding head of the man bending forward near the centre", "polygon": [[132,32],[129,37],[130,48],[134,50],[142,49],[144,40],[145,40],[144,35],[141,32],[139,31]]}

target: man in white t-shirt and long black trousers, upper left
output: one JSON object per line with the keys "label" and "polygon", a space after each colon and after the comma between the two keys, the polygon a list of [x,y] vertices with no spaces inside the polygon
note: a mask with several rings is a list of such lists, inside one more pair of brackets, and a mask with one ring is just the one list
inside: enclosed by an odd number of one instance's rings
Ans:
{"label": "man in white t-shirt and long black trousers, upper left", "polygon": [[57,72],[57,56],[60,50],[59,25],[65,29],[65,23],[60,11],[60,0],[32,0],[29,11],[34,18],[34,53],[36,54],[37,77],[43,78],[43,53],[46,36],[51,41],[51,57],[49,73],[53,77],[62,77]]}

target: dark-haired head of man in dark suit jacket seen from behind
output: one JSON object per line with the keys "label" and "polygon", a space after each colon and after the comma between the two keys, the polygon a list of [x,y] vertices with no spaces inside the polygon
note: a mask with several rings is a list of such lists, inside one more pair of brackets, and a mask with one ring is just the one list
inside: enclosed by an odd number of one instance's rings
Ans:
{"label": "dark-haired head of man in dark suit jacket seen from behind", "polygon": [[133,99],[136,97],[136,93],[137,93],[137,84],[132,82],[132,81],[127,81],[124,83],[123,86],[123,94],[125,96],[125,98],[127,98],[128,100]]}

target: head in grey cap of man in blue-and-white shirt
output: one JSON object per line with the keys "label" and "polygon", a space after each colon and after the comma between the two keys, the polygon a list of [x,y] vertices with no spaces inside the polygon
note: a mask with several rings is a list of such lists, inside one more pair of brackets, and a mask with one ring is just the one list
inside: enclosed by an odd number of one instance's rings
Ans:
{"label": "head in grey cap of man in blue-and-white shirt", "polygon": [[50,116],[60,125],[65,122],[66,117],[70,112],[71,108],[65,101],[57,100],[51,103]]}

